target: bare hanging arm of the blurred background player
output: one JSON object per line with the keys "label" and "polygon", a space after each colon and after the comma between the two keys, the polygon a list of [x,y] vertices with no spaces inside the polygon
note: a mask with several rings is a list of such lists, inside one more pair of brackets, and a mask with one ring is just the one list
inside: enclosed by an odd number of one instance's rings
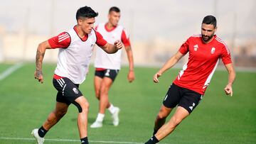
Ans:
{"label": "bare hanging arm of the blurred background player", "polygon": [[135,74],[134,74],[134,60],[133,60],[131,46],[130,45],[125,46],[125,51],[127,52],[127,57],[129,61],[129,73],[127,75],[127,79],[129,82],[132,82],[135,79]]}

